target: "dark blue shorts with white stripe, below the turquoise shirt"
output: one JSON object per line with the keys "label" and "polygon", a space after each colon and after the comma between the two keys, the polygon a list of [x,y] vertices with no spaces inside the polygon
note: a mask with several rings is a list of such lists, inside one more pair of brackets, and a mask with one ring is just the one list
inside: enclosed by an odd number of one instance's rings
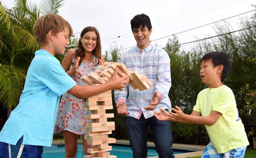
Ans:
{"label": "dark blue shorts with white stripe, below the turquoise shirt", "polygon": [[43,146],[23,145],[23,136],[16,145],[0,142],[0,158],[42,158]]}

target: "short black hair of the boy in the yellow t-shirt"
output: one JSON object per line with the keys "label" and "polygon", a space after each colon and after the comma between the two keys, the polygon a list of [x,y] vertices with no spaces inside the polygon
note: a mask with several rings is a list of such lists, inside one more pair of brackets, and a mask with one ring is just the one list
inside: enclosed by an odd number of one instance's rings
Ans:
{"label": "short black hair of the boy in the yellow t-shirt", "polygon": [[218,65],[223,65],[221,82],[224,82],[225,78],[230,73],[231,67],[232,67],[232,64],[230,59],[228,58],[228,55],[220,51],[213,51],[205,54],[201,59],[201,63],[207,60],[212,60],[213,67],[216,67]]}

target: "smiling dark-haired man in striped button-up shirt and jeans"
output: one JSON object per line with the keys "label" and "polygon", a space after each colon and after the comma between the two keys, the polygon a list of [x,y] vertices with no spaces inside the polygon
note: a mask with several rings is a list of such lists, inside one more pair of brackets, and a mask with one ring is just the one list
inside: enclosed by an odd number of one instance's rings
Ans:
{"label": "smiling dark-haired man in striped button-up shirt and jeans", "polygon": [[160,112],[159,108],[171,109],[168,97],[171,87],[170,58],[163,49],[150,43],[152,26],[147,15],[136,15],[131,20],[131,28],[137,45],[125,52],[121,61],[130,71],[137,70],[147,75],[154,85],[144,91],[134,90],[131,86],[124,91],[115,91],[117,113],[127,115],[126,127],[133,158],[147,157],[148,126],[159,158],[174,157],[171,123],[157,120],[153,113]]}

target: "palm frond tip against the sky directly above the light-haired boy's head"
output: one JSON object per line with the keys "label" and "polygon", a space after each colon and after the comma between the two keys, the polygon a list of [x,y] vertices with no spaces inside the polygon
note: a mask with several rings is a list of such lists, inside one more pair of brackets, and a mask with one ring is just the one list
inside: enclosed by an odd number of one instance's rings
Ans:
{"label": "palm frond tip against the sky directly above the light-haired boy's head", "polygon": [[50,13],[58,14],[58,9],[64,5],[64,3],[62,3],[63,1],[64,0],[42,0],[40,2],[40,13],[43,15]]}

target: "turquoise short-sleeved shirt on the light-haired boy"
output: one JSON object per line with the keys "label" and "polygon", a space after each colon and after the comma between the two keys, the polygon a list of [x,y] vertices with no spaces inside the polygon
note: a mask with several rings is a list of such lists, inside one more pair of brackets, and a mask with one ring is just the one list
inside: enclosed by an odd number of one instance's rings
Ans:
{"label": "turquoise short-sleeved shirt on the light-haired boy", "polygon": [[0,142],[16,145],[52,146],[52,136],[60,96],[76,85],[60,62],[49,52],[38,50],[32,60],[20,96],[0,132]]}

